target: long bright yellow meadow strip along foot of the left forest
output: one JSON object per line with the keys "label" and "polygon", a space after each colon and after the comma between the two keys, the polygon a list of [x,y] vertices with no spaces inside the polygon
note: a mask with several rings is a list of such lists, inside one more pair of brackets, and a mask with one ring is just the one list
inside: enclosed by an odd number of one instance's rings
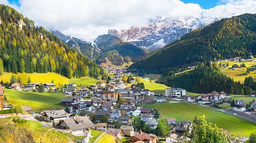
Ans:
{"label": "long bright yellow meadow strip along foot of the left forest", "polygon": [[49,83],[54,80],[56,85],[59,84],[69,84],[74,83],[77,85],[95,85],[98,80],[90,77],[83,77],[78,79],[68,79],[65,76],[59,75],[57,73],[5,73],[4,75],[0,76],[0,81],[3,82],[10,82],[10,76],[15,75],[16,78],[20,76],[23,84],[27,84],[27,79],[31,79],[31,82],[40,82],[40,83]]}

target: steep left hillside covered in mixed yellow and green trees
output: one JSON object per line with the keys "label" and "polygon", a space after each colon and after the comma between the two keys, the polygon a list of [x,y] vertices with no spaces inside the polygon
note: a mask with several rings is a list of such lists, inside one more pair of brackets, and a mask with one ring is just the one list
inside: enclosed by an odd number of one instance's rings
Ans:
{"label": "steep left hillside covered in mixed yellow and green trees", "polygon": [[106,71],[84,55],[70,49],[57,36],[21,13],[0,5],[0,66],[13,73],[56,72],[73,76],[105,75]]}

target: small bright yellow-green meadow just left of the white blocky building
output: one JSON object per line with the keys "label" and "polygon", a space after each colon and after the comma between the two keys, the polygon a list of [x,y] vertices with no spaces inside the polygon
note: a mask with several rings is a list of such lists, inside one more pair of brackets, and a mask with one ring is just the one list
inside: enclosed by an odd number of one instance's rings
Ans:
{"label": "small bright yellow-green meadow just left of the white blocky building", "polygon": [[157,83],[150,82],[148,79],[142,79],[142,82],[144,83],[146,89],[154,91],[156,93],[165,94],[165,89],[169,88],[164,84],[157,84]]}

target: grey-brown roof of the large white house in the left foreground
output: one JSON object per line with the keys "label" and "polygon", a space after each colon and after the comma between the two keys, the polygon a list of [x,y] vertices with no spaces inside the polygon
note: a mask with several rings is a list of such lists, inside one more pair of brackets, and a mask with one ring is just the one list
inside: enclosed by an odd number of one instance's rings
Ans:
{"label": "grey-brown roof of the large white house in the left foreground", "polygon": [[93,122],[91,122],[91,120],[87,116],[82,116],[76,119],[65,119],[63,120],[63,122],[65,122],[71,130],[80,130],[84,128],[95,127]]}

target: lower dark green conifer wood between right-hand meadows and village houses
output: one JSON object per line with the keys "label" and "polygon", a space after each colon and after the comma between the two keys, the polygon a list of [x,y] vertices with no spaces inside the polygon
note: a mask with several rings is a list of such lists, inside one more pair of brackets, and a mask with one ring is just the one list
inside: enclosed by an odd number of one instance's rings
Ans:
{"label": "lower dark green conifer wood between right-hand meadows and village houses", "polygon": [[194,70],[175,75],[170,71],[163,76],[160,83],[169,87],[181,87],[194,93],[224,91],[235,95],[250,95],[256,90],[256,82],[252,77],[246,78],[244,84],[222,75],[219,68],[211,67],[210,62],[200,64]]}

